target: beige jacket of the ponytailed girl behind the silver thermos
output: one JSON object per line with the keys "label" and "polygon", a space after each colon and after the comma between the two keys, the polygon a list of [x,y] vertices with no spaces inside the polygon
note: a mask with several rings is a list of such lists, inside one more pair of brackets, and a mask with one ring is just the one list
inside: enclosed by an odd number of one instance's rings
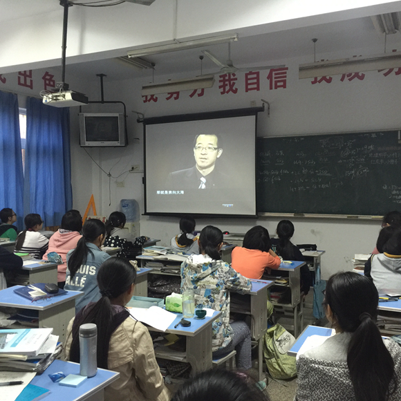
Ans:
{"label": "beige jacket of the ponytailed girl behind the silver thermos", "polygon": [[[73,321],[67,328],[66,357],[73,341]],[[108,369],[120,373],[104,389],[104,401],[169,401],[147,328],[132,317],[125,319],[110,337]]]}

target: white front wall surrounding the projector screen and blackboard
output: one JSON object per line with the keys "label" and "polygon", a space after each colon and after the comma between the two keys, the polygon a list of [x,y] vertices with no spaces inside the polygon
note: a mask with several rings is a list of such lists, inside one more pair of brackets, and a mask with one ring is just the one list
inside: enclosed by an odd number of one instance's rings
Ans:
{"label": "white front wall surrounding the projector screen and blackboard", "polygon": [[[367,53],[363,49],[362,53]],[[377,49],[369,49],[370,53]],[[358,53],[360,52],[360,53]],[[352,50],[342,57],[362,54],[361,49]],[[333,59],[339,55],[322,55]],[[110,99],[127,103],[129,115],[128,129],[130,144],[124,149],[90,149],[91,154],[100,166],[113,176],[127,171],[133,164],[143,168],[142,124],[136,122],[136,114],[140,111],[146,117],[173,115],[212,110],[236,109],[250,106],[252,100],[261,105],[263,98],[271,102],[270,117],[267,113],[259,113],[258,136],[282,136],[305,133],[331,133],[340,131],[363,131],[374,129],[391,129],[401,127],[400,84],[401,75],[394,73],[384,77],[382,73],[372,71],[366,73],[363,81],[340,81],[334,76],[331,84],[311,84],[311,80],[298,80],[298,64],[305,59],[277,60],[288,66],[288,82],[286,89],[270,91],[265,77],[268,71],[261,71],[261,91],[245,93],[244,74],[237,74],[239,91],[221,95],[218,89],[218,77],[214,88],[207,89],[203,97],[189,98],[190,92],[180,93],[178,100],[165,100],[167,95],[160,95],[157,103],[142,102],[140,88],[147,80],[126,80],[118,83],[106,83],[105,91]],[[169,78],[180,77],[164,77]],[[163,77],[160,77],[160,82]],[[133,138],[139,140],[133,140]],[[74,142],[74,141],[72,141]],[[78,164],[87,166],[88,157],[82,153],[77,143],[72,143],[73,155]],[[84,156],[81,158],[81,156]],[[111,179],[111,202],[109,201],[109,178],[100,172],[92,163],[93,194],[98,214],[110,214],[118,209],[121,198],[134,198],[140,204],[140,212],[144,212],[142,174],[124,174],[117,180]],[[78,166],[76,167],[79,168]],[[117,182],[124,187],[117,187]],[[87,181],[86,181],[87,182]],[[87,201],[81,197],[80,191],[85,186],[80,177],[73,178],[74,207],[84,211]],[[87,189],[86,189],[87,190]],[[109,205],[110,203],[110,205]],[[257,220],[236,218],[202,218],[198,219],[198,229],[213,224],[229,232],[246,232],[252,225],[261,224],[272,233],[280,218],[260,217]],[[338,270],[350,270],[351,258],[355,253],[369,253],[373,250],[380,223],[377,221],[346,221],[330,218],[292,218],[295,223],[294,243],[316,243],[318,248],[326,250],[323,257],[323,275],[328,278]],[[178,218],[141,216],[140,232],[161,239],[168,244],[169,239],[178,232]]]}

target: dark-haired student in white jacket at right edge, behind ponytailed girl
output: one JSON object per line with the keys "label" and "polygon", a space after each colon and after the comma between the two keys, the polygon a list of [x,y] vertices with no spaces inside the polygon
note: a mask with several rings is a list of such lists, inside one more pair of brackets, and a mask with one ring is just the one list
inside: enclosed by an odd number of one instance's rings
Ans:
{"label": "dark-haired student in white jacket at right edge, behind ponytailed girl", "polygon": [[383,253],[372,255],[370,260],[370,276],[377,290],[401,291],[401,229],[384,243]]}

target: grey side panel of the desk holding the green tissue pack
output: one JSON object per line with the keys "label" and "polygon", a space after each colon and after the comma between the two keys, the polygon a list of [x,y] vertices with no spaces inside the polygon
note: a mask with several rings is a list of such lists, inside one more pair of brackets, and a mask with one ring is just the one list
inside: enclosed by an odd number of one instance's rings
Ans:
{"label": "grey side panel of the desk holding the green tissue pack", "polygon": [[212,369],[211,324],[194,337],[187,337],[187,362],[192,366],[192,375]]}

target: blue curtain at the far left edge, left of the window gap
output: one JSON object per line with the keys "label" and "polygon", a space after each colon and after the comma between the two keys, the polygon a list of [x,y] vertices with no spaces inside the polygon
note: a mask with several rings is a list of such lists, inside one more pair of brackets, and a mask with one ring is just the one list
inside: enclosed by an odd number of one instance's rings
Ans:
{"label": "blue curtain at the far left edge, left of the window gap", "polygon": [[17,95],[0,91],[0,209],[11,207],[17,213],[17,226],[24,218],[24,171]]}

